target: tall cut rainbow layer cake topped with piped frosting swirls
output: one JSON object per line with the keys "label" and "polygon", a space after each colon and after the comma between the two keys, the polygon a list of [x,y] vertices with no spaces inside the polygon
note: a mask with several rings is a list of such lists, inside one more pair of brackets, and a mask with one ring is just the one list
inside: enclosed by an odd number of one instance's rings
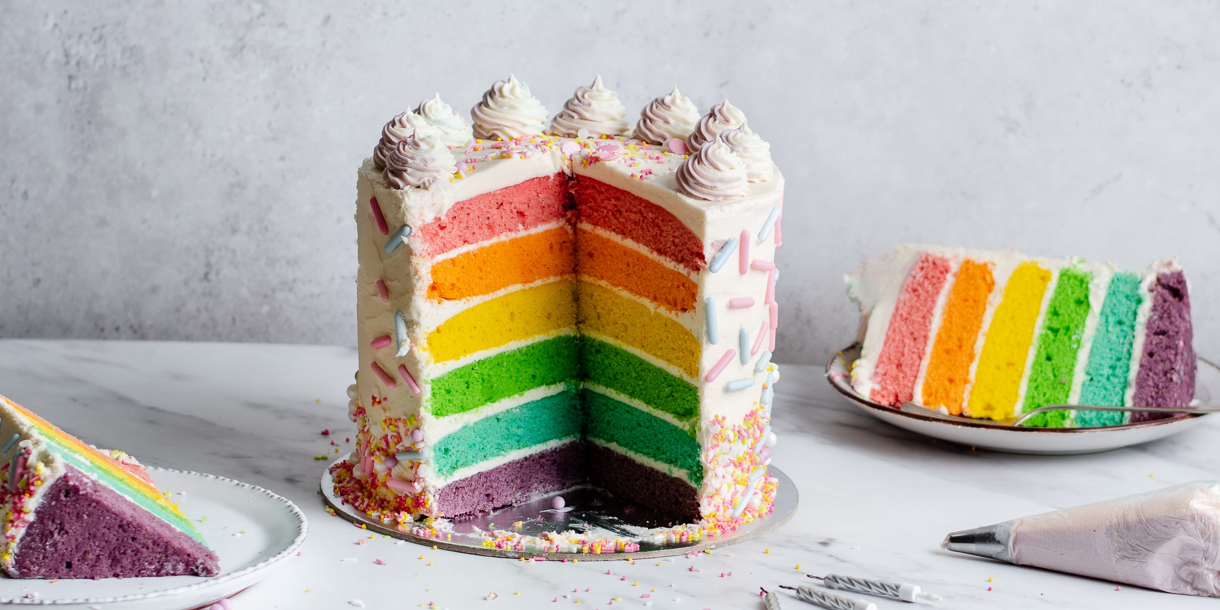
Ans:
{"label": "tall cut rainbow layer cake topped with piped frosting swirls", "polygon": [[439,96],[359,171],[346,501],[401,523],[593,486],[661,522],[770,512],[783,178],[727,101],[632,129],[600,78]]}

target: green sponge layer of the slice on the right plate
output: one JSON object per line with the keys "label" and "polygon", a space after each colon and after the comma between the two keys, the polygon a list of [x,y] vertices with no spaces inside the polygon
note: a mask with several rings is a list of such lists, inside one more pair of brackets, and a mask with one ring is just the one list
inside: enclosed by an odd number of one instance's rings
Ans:
{"label": "green sponge layer of the slice on the right plate", "polygon": [[[1076,375],[1076,354],[1085,334],[1085,318],[1088,317],[1088,283],[1092,278],[1092,273],[1077,267],[1065,267],[1059,273],[1059,283],[1050,295],[1038,336],[1022,412],[1068,403]],[[1046,411],[1030,417],[1025,426],[1061,428],[1068,425],[1069,416],[1069,411]]]}

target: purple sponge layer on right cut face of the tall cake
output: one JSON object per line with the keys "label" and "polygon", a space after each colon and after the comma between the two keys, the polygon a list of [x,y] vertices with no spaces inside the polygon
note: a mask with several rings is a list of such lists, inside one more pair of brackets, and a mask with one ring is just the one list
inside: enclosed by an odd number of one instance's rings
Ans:
{"label": "purple sponge layer on right cut face of the tall cake", "polygon": [[653,470],[601,445],[587,443],[584,447],[593,484],[649,508],[661,521],[699,521],[699,489],[686,479]]}

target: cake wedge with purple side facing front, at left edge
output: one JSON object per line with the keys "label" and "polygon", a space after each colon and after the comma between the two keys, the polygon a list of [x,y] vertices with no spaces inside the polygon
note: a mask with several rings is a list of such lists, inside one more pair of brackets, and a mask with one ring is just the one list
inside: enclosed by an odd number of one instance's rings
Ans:
{"label": "cake wedge with purple side facing front, at left edge", "polygon": [[0,395],[0,562],[15,578],[215,576],[216,554],[144,466]]}

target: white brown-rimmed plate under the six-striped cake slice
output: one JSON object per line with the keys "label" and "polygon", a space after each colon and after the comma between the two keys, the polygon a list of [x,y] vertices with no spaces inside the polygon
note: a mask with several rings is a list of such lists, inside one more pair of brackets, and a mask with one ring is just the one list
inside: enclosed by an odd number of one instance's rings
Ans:
{"label": "white brown-rimmed plate under the six-striped cake slice", "polygon": [[[987,426],[964,421],[948,422],[919,414],[908,414],[872,403],[852,387],[852,362],[860,356],[859,345],[839,351],[826,364],[826,379],[841,394],[866,414],[911,432],[950,440],[964,445],[1021,454],[1087,454],[1107,451],[1165,438],[1193,428],[1205,415],[1182,415],[1168,420],[1154,420],[1125,426],[1096,428],[1035,428],[1026,426]],[[1194,379],[1194,398],[1210,404],[1211,396],[1220,398],[1220,367],[1199,359]]]}

